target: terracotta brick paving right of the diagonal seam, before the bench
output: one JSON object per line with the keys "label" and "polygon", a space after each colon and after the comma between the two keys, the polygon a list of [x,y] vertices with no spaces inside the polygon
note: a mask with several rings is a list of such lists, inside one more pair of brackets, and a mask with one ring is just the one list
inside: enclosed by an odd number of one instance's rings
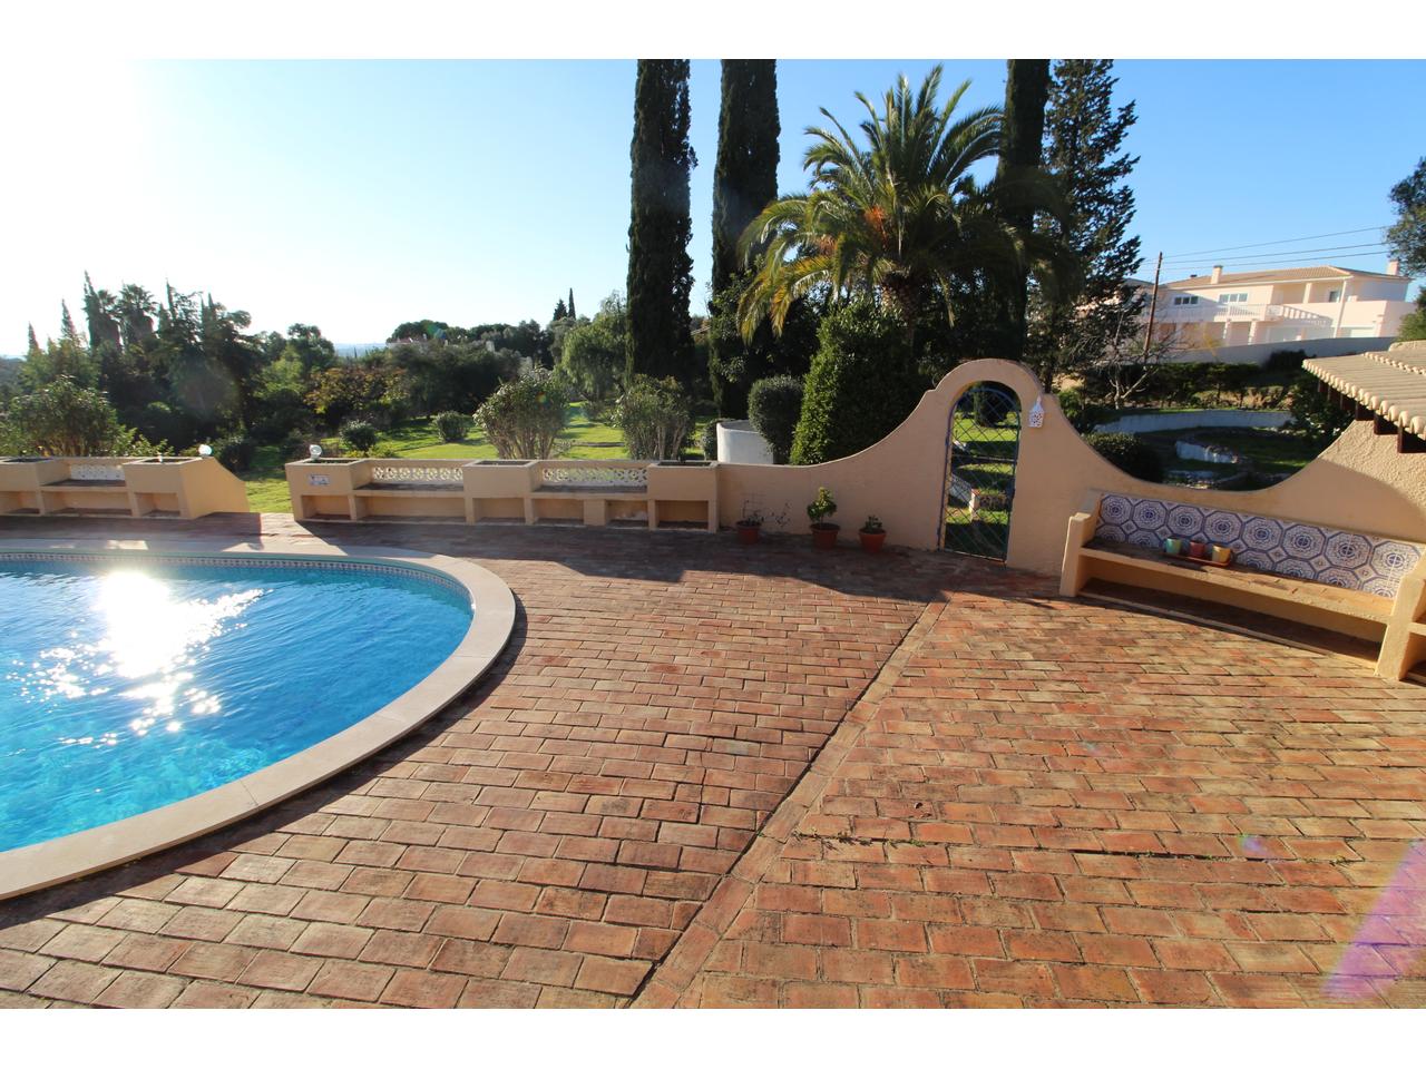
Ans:
{"label": "terracotta brick paving right of the diagonal seam, before the bench", "polygon": [[1426,690],[1028,577],[933,616],[643,1005],[1426,1006]]}

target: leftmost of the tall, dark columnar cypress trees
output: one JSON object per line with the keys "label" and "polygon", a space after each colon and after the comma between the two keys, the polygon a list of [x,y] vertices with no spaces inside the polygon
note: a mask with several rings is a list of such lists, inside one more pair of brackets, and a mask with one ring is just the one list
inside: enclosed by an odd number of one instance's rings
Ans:
{"label": "leftmost of the tall, dark columnar cypress trees", "polygon": [[697,157],[689,145],[687,60],[639,60],[629,158],[626,373],[689,382],[689,172]]}

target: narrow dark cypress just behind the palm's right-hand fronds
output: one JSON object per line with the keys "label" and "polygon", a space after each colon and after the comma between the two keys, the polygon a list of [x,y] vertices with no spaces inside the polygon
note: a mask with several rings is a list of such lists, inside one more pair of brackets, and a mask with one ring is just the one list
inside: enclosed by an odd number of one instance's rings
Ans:
{"label": "narrow dark cypress just behind the palm's right-hand fronds", "polygon": [[[1034,211],[1022,207],[1015,182],[1040,167],[1045,130],[1045,100],[1050,94],[1050,60],[1005,61],[1005,117],[1001,124],[1000,162],[995,181],[1002,184],[1001,217],[1021,234],[1034,229]],[[997,356],[1018,361],[1025,355],[1025,286],[1022,271],[1018,285],[997,294],[1001,328],[997,331]]]}

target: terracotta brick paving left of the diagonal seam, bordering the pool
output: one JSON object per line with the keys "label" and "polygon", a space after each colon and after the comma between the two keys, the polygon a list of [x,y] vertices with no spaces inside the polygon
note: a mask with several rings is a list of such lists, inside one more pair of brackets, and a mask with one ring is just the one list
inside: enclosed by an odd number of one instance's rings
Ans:
{"label": "terracotta brick paving left of the diagonal seam, bordering the pool", "polygon": [[[0,1003],[626,999],[957,567],[817,556],[801,539],[749,552],[693,533],[321,530],[496,572],[522,607],[496,670],[277,810],[0,904]],[[0,525],[40,532],[96,533]]]}

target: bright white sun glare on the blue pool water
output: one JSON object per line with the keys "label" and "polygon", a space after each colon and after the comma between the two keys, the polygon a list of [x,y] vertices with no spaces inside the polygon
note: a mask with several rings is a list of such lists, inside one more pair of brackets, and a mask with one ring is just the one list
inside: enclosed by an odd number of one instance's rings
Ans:
{"label": "bright white sun glare on the blue pool water", "polygon": [[[215,599],[178,600],[164,580],[143,572],[111,572],[100,580],[94,600],[103,637],[80,641],[70,631],[68,644],[40,653],[30,666],[24,691],[46,701],[76,700],[117,690],[133,703],[128,733],[178,731],[185,717],[222,711],[218,696],[190,686],[193,666],[202,649],[232,624],[258,597],[261,589]],[[120,731],[61,737],[66,745],[117,745]]]}

